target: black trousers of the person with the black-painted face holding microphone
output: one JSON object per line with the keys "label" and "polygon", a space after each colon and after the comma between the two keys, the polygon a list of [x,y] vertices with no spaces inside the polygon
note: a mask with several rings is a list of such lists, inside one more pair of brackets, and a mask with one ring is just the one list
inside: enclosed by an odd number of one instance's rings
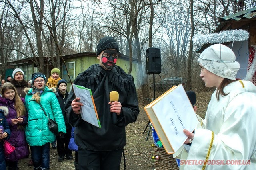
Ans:
{"label": "black trousers of the person with the black-painted face holding microphone", "polygon": [[78,147],[79,170],[120,170],[123,150],[93,151]]}

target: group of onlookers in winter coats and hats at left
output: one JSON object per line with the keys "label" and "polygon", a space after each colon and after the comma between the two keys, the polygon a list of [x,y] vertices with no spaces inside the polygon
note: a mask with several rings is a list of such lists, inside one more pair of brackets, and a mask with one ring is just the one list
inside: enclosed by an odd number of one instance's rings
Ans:
{"label": "group of onlookers in winter coats and hats at left", "polygon": [[[29,154],[31,160],[28,166],[34,166],[34,169],[50,169],[50,145],[56,140],[58,161],[63,161],[65,156],[66,159],[73,160],[72,150],[68,149],[71,126],[64,116],[68,97],[67,82],[60,78],[58,68],[52,69],[51,74],[49,82],[40,72],[32,74],[31,80],[26,81],[24,72],[16,68],[12,76],[8,76],[8,81],[2,81],[0,170],[18,170],[18,160],[28,158]],[[46,86],[46,83],[51,87]],[[58,136],[46,128],[48,117],[43,109],[49,118],[57,122]],[[11,154],[4,154],[4,141],[15,147]]]}

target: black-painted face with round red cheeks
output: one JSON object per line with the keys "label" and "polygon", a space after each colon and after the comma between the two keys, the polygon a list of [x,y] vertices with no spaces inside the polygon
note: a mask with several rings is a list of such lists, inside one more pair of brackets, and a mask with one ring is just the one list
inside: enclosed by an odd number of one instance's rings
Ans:
{"label": "black-painted face with round red cheeks", "polygon": [[117,57],[116,50],[106,49],[102,54],[101,62],[106,69],[111,70],[116,65]]}

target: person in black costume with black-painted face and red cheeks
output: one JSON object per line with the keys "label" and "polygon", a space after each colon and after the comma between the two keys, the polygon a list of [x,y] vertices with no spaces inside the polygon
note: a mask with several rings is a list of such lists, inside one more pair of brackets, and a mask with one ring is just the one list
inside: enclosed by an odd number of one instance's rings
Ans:
{"label": "person in black costume with black-painted face and red cheeks", "polygon": [[[76,127],[78,164],[82,170],[119,170],[126,144],[125,126],[136,121],[139,114],[138,98],[133,77],[116,66],[119,47],[113,37],[100,39],[97,45],[99,64],[80,73],[74,84],[90,88],[100,119],[98,128],[80,116],[82,103],[71,91],[66,103],[68,122]],[[119,93],[119,100],[109,102],[111,91]],[[112,121],[116,114],[117,123]]]}

